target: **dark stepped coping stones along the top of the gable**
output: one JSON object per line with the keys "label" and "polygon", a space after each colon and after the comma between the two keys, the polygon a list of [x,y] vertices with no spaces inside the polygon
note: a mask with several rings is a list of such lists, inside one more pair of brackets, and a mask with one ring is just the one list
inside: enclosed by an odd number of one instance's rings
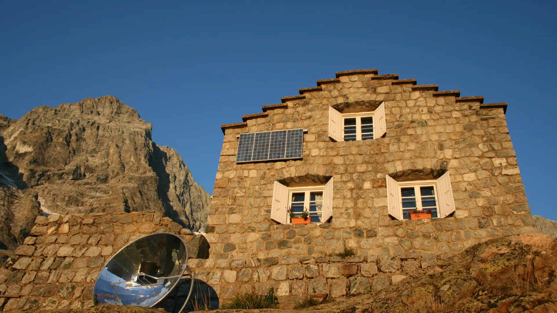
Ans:
{"label": "dark stepped coping stones along the top of the gable", "polygon": [[[296,101],[296,100],[304,100],[306,99],[306,94],[310,92],[319,92],[323,91],[323,85],[326,84],[339,84],[340,77],[342,76],[350,76],[350,75],[369,75],[366,76],[367,79],[370,80],[391,80],[391,85],[413,85],[412,91],[417,90],[430,90],[433,91],[434,97],[447,97],[453,96],[455,97],[456,102],[480,102],[480,109],[498,109],[502,108],[503,112],[506,113],[507,111],[507,103],[506,102],[499,102],[499,103],[488,103],[483,104],[483,96],[470,96],[470,97],[461,97],[460,90],[443,90],[439,91],[439,85],[418,85],[416,79],[398,79],[398,74],[384,74],[379,75],[377,69],[367,69],[367,70],[351,70],[351,71],[340,71],[335,72],[336,78],[334,79],[319,79],[316,81],[316,87],[306,87],[300,88],[298,91],[300,95],[294,96],[286,96],[281,97],[281,102],[279,104],[270,104],[270,105],[263,105],[261,109],[263,113],[255,113],[255,114],[247,114],[242,115],[243,123],[232,123],[232,124],[224,124],[221,125],[222,133],[224,133],[225,129],[229,128],[243,128],[247,126],[246,121],[251,119],[257,118],[266,118],[268,116],[267,111],[275,110],[275,109],[287,109],[288,101]],[[387,82],[388,84],[388,82]]]}

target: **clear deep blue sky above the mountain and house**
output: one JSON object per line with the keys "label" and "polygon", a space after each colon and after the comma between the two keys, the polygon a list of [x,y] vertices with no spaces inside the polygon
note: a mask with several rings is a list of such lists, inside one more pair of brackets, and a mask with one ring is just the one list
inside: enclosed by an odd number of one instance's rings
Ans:
{"label": "clear deep blue sky above the mountain and house", "polygon": [[211,193],[221,124],[379,69],[508,102],[532,214],[557,219],[555,2],[198,3],[3,1],[0,113],[116,96]]}

